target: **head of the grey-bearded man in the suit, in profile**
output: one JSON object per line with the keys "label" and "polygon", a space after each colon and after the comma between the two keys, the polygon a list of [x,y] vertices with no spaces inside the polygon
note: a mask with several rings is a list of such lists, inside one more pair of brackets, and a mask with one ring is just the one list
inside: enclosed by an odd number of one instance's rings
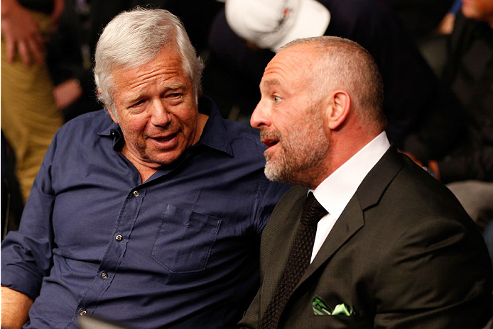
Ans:
{"label": "head of the grey-bearded man in the suit, in profile", "polygon": [[268,146],[266,177],[318,186],[384,130],[376,64],[357,43],[297,40],[264,70],[251,126]]}

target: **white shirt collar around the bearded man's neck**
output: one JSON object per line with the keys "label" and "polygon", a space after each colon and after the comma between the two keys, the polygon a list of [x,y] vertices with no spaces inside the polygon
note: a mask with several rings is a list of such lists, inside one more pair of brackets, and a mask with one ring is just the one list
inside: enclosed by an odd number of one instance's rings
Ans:
{"label": "white shirt collar around the bearded man's neck", "polygon": [[332,216],[339,218],[359,184],[389,147],[386,133],[380,133],[313,190],[315,199]]}

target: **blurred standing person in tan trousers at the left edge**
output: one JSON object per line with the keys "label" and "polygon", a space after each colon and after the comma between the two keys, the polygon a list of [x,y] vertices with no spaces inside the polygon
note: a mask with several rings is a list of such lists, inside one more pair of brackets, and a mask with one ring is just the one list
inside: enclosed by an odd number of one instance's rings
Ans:
{"label": "blurred standing person in tan trousers at the left edge", "polygon": [[63,124],[45,62],[63,0],[1,1],[1,129],[26,202],[56,130]]}

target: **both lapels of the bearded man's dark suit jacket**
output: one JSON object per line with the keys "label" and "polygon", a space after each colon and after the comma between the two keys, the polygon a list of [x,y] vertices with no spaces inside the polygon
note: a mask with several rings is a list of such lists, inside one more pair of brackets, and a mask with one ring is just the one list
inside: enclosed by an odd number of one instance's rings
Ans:
{"label": "both lapels of the bearded man's dark suit jacket", "polygon": [[[350,242],[351,237],[358,230],[364,227],[364,210],[378,203],[386,187],[403,165],[401,155],[394,147],[391,147],[359,185],[295,290],[325,262],[329,261],[330,257],[342,245]],[[264,313],[273,294],[276,293],[286,269],[288,255],[293,246],[296,230],[298,230],[301,209],[307,192],[308,189],[302,186],[296,186],[289,191],[289,195],[286,194],[288,197],[283,197],[279,201],[264,230],[263,247],[261,247],[261,259],[264,261],[261,260],[261,262],[265,262],[265,264],[261,268],[266,271],[261,286],[262,298],[259,310],[261,314]]]}

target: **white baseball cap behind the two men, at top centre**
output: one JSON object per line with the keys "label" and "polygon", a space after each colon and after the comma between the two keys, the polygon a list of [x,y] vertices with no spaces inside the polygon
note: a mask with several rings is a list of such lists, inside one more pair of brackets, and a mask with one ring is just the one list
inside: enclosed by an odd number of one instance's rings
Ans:
{"label": "white baseball cap behind the two men, at top centre", "polygon": [[328,9],[315,0],[226,0],[225,8],[234,33],[273,52],[295,39],[323,35],[330,22]]}

